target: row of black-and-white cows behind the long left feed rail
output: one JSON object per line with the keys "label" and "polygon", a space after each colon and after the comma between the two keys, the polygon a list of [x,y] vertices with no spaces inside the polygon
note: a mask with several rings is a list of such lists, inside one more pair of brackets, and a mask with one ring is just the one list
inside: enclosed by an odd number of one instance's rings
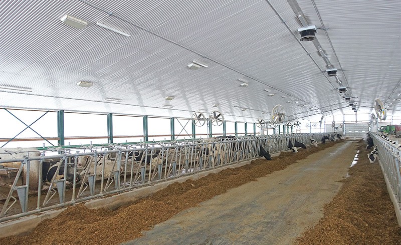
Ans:
{"label": "row of black-and-white cows behind the long left feed rail", "polygon": [[[172,171],[183,171],[186,168],[202,168],[205,166],[213,167],[223,163],[233,162],[242,158],[243,155],[264,157],[271,160],[268,149],[263,147],[261,141],[240,141],[235,136],[219,136],[208,138],[202,141],[204,144],[198,144],[192,147],[166,147],[165,149],[149,149],[123,151],[121,154],[107,153],[72,156],[63,159],[45,159],[42,163],[43,183],[54,183],[59,179],[65,179],[67,184],[88,181],[89,175],[95,175],[96,179],[110,178],[113,173],[120,175],[130,175],[131,179],[138,180],[139,176],[147,175],[153,178],[157,173],[164,172],[164,177],[171,174]],[[293,152],[298,152],[297,147],[306,148],[302,142],[291,140],[288,142],[288,148]],[[311,144],[317,146],[317,142],[311,138]],[[25,156],[40,156],[36,148],[0,148],[0,159],[16,159]],[[20,152],[19,152],[20,151]],[[173,167],[173,164],[175,165]],[[21,162],[1,163],[5,167],[19,168]],[[185,169],[187,171],[187,169]],[[26,179],[26,166],[23,166],[23,183]],[[30,163],[30,188],[37,189],[39,185],[39,161]],[[135,177],[133,177],[135,176]],[[141,176],[144,178],[144,176]],[[1,176],[0,176],[1,178]],[[150,178],[150,177],[149,177]],[[1,180],[1,179],[0,179]],[[5,185],[4,183],[0,184]],[[12,182],[6,185],[10,186]],[[46,185],[44,188],[47,188]]]}

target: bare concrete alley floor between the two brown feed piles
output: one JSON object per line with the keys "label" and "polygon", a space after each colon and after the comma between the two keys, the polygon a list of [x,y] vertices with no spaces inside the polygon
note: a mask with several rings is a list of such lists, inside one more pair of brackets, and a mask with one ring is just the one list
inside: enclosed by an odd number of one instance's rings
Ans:
{"label": "bare concrete alley floor between the two brown feed piles", "polygon": [[345,142],[229,190],[125,244],[291,244],[323,217],[356,153]]}

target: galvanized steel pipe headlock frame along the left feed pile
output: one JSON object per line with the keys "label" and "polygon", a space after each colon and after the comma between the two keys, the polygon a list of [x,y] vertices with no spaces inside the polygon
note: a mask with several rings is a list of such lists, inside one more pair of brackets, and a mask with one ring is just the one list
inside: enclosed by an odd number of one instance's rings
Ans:
{"label": "galvanized steel pipe headlock frame along the left feed pile", "polygon": [[[71,161],[74,159],[74,181],[73,181],[73,196],[72,199],[67,201],[64,200],[65,192],[66,192],[66,185],[63,186],[63,188],[60,190],[59,195],[63,195],[63,198],[61,198],[61,203],[59,204],[53,204],[51,206],[46,206],[46,203],[42,204],[38,201],[37,208],[35,210],[27,210],[26,212],[22,212],[19,214],[11,215],[11,216],[6,216],[6,213],[2,213],[2,216],[0,217],[0,222],[10,220],[12,218],[17,218],[21,216],[25,216],[28,214],[32,213],[37,213],[41,212],[43,210],[49,210],[51,208],[57,208],[65,205],[69,205],[72,203],[76,203],[79,201],[84,201],[100,196],[104,196],[107,194],[113,194],[121,191],[125,191],[128,189],[133,189],[137,188],[139,186],[143,186],[145,184],[152,184],[156,181],[165,181],[167,179],[173,178],[173,177],[179,177],[183,175],[187,175],[193,172],[199,172],[199,171],[204,171],[204,170],[209,170],[213,169],[222,165],[228,165],[228,164],[233,164],[238,161],[244,161],[244,160],[251,160],[259,157],[259,147],[262,146],[266,150],[269,150],[270,153],[277,153],[280,151],[285,151],[288,150],[288,140],[292,141],[300,141],[305,143],[306,145],[309,144],[310,138],[313,138],[315,140],[320,140],[320,138],[324,135],[324,133],[314,133],[314,134],[308,134],[308,133],[302,133],[302,134],[282,134],[282,135],[269,135],[269,136],[248,136],[248,137],[238,137],[236,140],[232,141],[224,141],[223,139],[217,139],[217,138],[208,138],[208,139],[203,139],[203,140],[185,140],[181,142],[177,141],[170,141],[170,142],[162,142],[159,143],[159,146],[155,146],[156,144],[149,144],[149,143],[143,143],[142,145],[136,145],[140,146],[139,148],[135,148],[136,146],[134,145],[110,145],[109,147],[104,147],[108,148],[108,150],[102,150],[104,148],[101,148],[98,150],[96,147],[93,149],[88,149],[82,148],[81,150],[91,150],[90,152],[82,152],[82,153],[70,153],[71,149],[67,151],[64,151],[60,153],[59,155],[50,155],[46,156],[45,151],[42,152],[41,156],[38,157],[26,157],[26,158],[21,158],[21,159],[10,159],[10,160],[0,160],[0,163],[4,162],[16,162],[16,161],[22,161],[25,163],[29,163],[30,161],[33,160],[40,160],[40,163],[43,162],[45,159],[64,159],[63,160],[63,165],[64,171],[67,172],[67,161],[69,161],[68,164],[72,164]],[[109,150],[112,149],[112,150]],[[205,149],[209,149],[210,152],[212,152],[212,149],[215,149],[213,151],[213,154],[206,154]],[[152,153],[157,152],[160,150],[158,153],[157,157],[159,157],[158,160],[160,162],[157,162],[155,158],[151,158],[150,162],[147,163],[146,156],[148,154],[152,155]],[[61,152],[61,151],[59,151]],[[142,152],[142,159],[139,161],[133,161],[131,159],[131,171],[127,171],[127,166],[128,166],[128,154],[132,152],[133,155],[135,153]],[[76,196],[75,193],[75,188],[77,187],[77,183],[75,182],[75,177],[76,177],[76,170],[77,170],[77,158],[80,156],[91,156],[95,159],[94,162],[97,162],[98,156],[103,156],[103,163],[105,161],[106,155],[109,155],[110,157],[115,155],[114,157],[114,165],[113,169],[111,170],[110,173],[108,173],[107,176],[107,183],[104,184],[103,180],[106,179],[105,176],[105,164],[102,164],[102,174],[101,174],[101,186],[100,186],[100,191],[95,189],[96,185],[96,180],[93,183],[93,191],[90,191],[89,196],[82,196],[81,194],[86,191],[84,187],[80,188],[80,191],[78,195]],[[121,172],[121,164],[122,164],[122,157],[124,157],[124,172]],[[143,157],[145,156],[145,157]],[[92,158],[92,159],[93,159]],[[92,160],[90,160],[90,163],[92,163]],[[94,163],[95,164],[95,163]],[[137,164],[137,170],[135,172],[134,176],[134,171],[133,171],[133,166],[134,164]],[[96,173],[96,165],[94,165],[94,173]],[[115,169],[114,170],[114,166]],[[144,169],[144,171],[141,169]],[[112,173],[116,173],[113,175]],[[25,173],[27,175],[27,178],[29,179],[30,173]],[[120,183],[121,181],[121,174],[124,174],[123,176],[123,183]],[[129,176],[128,176],[129,174]],[[21,171],[19,171],[18,176],[16,179],[18,179],[21,176]],[[127,176],[129,178],[127,178]],[[86,183],[86,175],[82,179],[81,186]],[[114,178],[114,179],[113,179]],[[41,187],[42,187],[42,176],[39,176],[39,186],[38,186],[38,200],[41,198]],[[96,174],[95,174],[95,179],[96,179]],[[128,180],[129,179],[129,180]],[[114,189],[108,189],[110,187],[110,184],[114,181],[115,188]],[[52,185],[54,183],[54,180],[50,184],[48,194],[49,198],[46,198],[50,200],[55,194],[57,194],[57,191],[52,192]],[[28,183],[29,184],[29,183]],[[17,187],[17,181],[14,181],[12,190],[13,188]],[[87,186],[88,187],[88,186]],[[86,188],[86,187],[85,187]],[[10,199],[12,198],[12,194],[14,191],[10,191],[7,200],[3,206],[3,209],[6,210],[8,207],[8,203]],[[96,193],[95,193],[96,192]],[[88,194],[88,193],[86,193]],[[52,195],[50,197],[50,195]],[[36,196],[35,196],[36,197]],[[25,203],[28,203],[28,198],[29,196],[26,195],[26,200]],[[14,202],[15,203],[15,202]],[[13,204],[14,204],[13,203]],[[12,205],[13,205],[12,204]]]}

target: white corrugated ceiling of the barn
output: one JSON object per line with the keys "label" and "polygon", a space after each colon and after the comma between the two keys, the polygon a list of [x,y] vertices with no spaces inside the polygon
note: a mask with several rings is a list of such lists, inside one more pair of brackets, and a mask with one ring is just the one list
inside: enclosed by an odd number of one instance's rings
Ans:
{"label": "white corrugated ceiling of the barn", "polygon": [[[32,88],[0,89],[1,107],[175,117],[218,109],[254,122],[282,104],[294,120],[351,112],[337,92],[346,86],[358,113],[376,98],[390,116],[401,110],[399,0],[32,0],[2,1],[0,10],[0,86]],[[88,27],[63,24],[65,14]],[[315,41],[299,41],[298,15],[318,28]],[[319,46],[342,85],[326,77]],[[209,68],[188,69],[194,60]]]}

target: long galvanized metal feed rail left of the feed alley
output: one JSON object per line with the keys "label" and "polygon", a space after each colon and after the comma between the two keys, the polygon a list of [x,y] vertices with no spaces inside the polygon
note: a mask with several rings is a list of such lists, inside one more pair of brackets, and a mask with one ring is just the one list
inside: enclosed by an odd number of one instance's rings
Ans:
{"label": "long galvanized metal feed rail left of the feed alley", "polygon": [[[109,144],[102,147],[82,146],[75,149],[51,147],[48,150],[41,150],[40,156],[9,160],[3,158],[0,163],[22,164],[4,201],[0,222],[255,159],[259,157],[260,146],[271,154],[286,151],[288,140],[293,143],[297,140],[308,145],[311,138],[320,141],[323,135],[325,133],[248,136],[235,139],[207,138],[132,145]],[[3,154],[0,154],[0,157]],[[51,182],[43,183],[42,167],[47,159],[58,161],[60,164]],[[71,182],[57,177],[61,168],[64,168],[64,173],[68,169],[74,170]],[[79,182],[76,181],[77,174],[81,177]],[[21,177],[23,181],[19,181]],[[37,180],[38,184],[34,185],[33,179]],[[18,198],[14,196],[15,191]],[[57,195],[59,198],[54,198]],[[71,198],[67,200],[67,196]],[[32,201],[29,205],[30,200],[34,200],[34,203],[36,201],[36,205],[32,205]],[[21,209],[18,205],[14,206],[18,201]],[[14,209],[12,214],[10,214],[11,208]]]}

